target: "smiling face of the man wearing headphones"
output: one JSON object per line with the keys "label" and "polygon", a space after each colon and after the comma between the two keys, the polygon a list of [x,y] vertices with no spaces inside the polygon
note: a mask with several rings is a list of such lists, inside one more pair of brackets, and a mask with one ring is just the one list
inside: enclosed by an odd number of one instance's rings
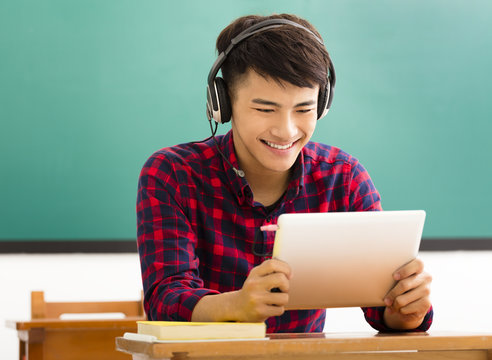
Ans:
{"label": "smiling face of the man wearing headphones", "polygon": [[234,89],[232,131],[242,170],[288,172],[313,135],[318,89],[264,78],[249,70]]}

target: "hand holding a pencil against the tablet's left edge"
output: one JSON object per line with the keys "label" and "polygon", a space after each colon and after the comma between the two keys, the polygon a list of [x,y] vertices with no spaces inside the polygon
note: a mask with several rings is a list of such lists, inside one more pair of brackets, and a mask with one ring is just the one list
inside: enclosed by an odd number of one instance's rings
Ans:
{"label": "hand holding a pencil against the tablet's left edge", "polygon": [[[289,265],[270,259],[254,267],[241,290],[236,293],[235,308],[238,321],[260,322],[284,313],[289,300]],[[278,288],[280,292],[272,292]]]}

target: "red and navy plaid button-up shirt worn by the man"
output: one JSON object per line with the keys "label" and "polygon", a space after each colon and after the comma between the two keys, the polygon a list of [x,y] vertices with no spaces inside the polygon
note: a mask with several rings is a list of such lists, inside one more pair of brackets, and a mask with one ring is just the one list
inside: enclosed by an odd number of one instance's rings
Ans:
{"label": "red and navy plaid button-up shirt worn by the man", "polygon": [[[232,132],[218,144],[238,168]],[[314,142],[301,151],[287,191],[268,211],[253,200],[245,178],[218,154],[212,139],[154,153],[140,174],[138,251],[151,320],[190,321],[205,295],[238,290],[250,270],[271,253],[282,213],[381,210],[379,194],[359,162],[338,148]],[[256,240],[255,240],[256,239]],[[363,308],[368,323],[383,323],[384,307]],[[432,310],[418,330],[427,330]],[[324,310],[286,311],[266,320],[268,332],[321,332]]]}

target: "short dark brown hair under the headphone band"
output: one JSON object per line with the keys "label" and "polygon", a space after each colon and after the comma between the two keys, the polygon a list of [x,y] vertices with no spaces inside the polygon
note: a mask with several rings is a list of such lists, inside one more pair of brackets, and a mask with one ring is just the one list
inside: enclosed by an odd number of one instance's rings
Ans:
{"label": "short dark brown hair under the headphone band", "polygon": [[[217,38],[217,51],[223,52],[241,31],[263,20],[287,19],[316,34],[318,31],[306,20],[295,15],[249,15],[233,21]],[[239,43],[228,55],[221,67],[222,77],[231,96],[240,77],[252,69],[259,75],[276,81],[287,81],[299,87],[320,89],[327,83],[329,55],[326,48],[309,32],[298,27],[282,25],[260,31]]]}

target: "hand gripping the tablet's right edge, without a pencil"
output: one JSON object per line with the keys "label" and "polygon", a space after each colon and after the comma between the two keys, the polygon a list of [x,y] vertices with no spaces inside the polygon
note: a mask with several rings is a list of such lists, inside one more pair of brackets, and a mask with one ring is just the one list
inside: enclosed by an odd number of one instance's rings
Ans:
{"label": "hand gripping the tablet's right edge, without a pencil", "polygon": [[414,259],[393,273],[397,281],[384,298],[384,321],[393,329],[415,329],[431,306],[432,277],[424,272],[424,263]]}

